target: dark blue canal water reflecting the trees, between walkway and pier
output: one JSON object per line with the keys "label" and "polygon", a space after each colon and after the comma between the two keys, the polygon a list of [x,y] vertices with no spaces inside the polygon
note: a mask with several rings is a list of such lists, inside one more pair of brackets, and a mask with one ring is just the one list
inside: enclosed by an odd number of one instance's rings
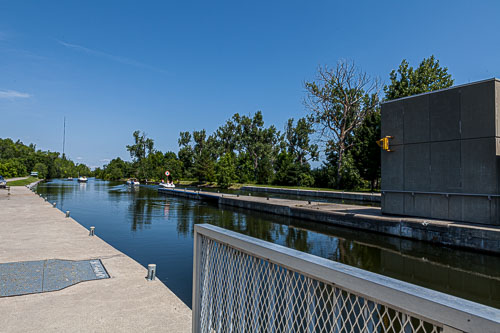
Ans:
{"label": "dark blue canal water reflecting the trees, between walkway and pier", "polygon": [[158,194],[155,186],[52,180],[38,193],[144,266],[191,306],[193,226],[210,223],[500,308],[500,256]]}

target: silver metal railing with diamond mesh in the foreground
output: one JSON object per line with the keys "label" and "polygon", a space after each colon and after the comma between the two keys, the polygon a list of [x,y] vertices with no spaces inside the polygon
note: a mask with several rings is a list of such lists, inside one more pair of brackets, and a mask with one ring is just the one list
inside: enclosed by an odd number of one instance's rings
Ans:
{"label": "silver metal railing with diamond mesh in the foreground", "polygon": [[193,332],[500,332],[500,310],[195,225]]}

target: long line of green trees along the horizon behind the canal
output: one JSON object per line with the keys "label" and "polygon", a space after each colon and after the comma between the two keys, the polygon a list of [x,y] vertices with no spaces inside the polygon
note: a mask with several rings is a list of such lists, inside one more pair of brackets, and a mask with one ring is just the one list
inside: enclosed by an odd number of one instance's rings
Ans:
{"label": "long line of green trees along the horizon behind the canal", "polygon": [[[216,182],[221,187],[258,183],[374,190],[380,186],[380,148],[376,144],[380,102],[448,88],[454,82],[434,56],[424,58],[417,68],[403,60],[389,79],[382,88],[379,79],[348,61],[338,62],[335,68],[319,67],[315,79],[305,82],[307,115],[288,119],[283,131],[265,126],[261,111],[235,113],[211,134],[205,129],[180,132],[177,154],[155,149],[153,139],[135,131],[133,144],[126,146],[132,161],[117,157],[91,175],[106,180],[134,177],[159,181],[169,170],[175,180]],[[13,161],[4,158],[1,147],[0,174],[2,163]],[[32,151],[27,154],[31,156],[35,149],[29,147]],[[321,153],[321,165],[312,168],[311,162],[319,161]],[[69,170],[81,166],[58,153],[36,154],[53,159],[37,160],[47,166],[44,174],[50,178],[66,177]],[[19,161],[20,157],[16,158]],[[35,165],[29,163],[24,163],[26,171],[34,170]]]}

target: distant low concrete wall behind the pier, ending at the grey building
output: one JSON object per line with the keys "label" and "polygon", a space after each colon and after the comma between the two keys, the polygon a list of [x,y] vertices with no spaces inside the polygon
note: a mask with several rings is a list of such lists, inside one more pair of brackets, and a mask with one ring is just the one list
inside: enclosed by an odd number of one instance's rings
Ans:
{"label": "distant low concrete wall behind the pier, ending at the grey building", "polygon": [[317,191],[278,187],[243,186],[243,191],[297,195],[311,198],[330,198],[363,202],[380,202],[380,193]]}

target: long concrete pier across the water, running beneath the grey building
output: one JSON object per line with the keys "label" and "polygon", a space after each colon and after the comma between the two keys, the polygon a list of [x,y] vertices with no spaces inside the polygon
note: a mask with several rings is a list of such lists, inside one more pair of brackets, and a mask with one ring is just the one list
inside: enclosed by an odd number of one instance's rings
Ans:
{"label": "long concrete pier across the water, running beneath the grey building", "polygon": [[382,215],[378,207],[232,194],[160,189],[159,192],[218,205],[372,231],[435,244],[500,253],[500,228],[444,220]]}

